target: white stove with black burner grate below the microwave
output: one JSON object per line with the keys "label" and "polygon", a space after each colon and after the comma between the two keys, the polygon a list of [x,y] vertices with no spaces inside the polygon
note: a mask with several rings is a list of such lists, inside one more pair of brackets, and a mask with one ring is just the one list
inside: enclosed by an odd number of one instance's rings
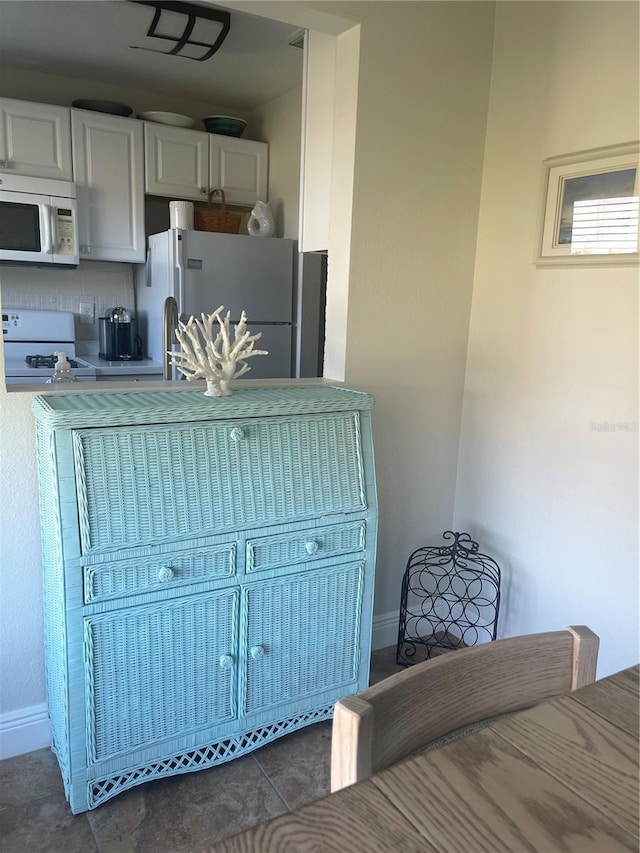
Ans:
{"label": "white stove with black burner grate below the microwave", "polygon": [[2,339],[7,385],[46,382],[53,375],[56,352],[67,354],[76,379],[95,382],[95,367],[76,355],[70,311],[7,309],[2,312]]}

